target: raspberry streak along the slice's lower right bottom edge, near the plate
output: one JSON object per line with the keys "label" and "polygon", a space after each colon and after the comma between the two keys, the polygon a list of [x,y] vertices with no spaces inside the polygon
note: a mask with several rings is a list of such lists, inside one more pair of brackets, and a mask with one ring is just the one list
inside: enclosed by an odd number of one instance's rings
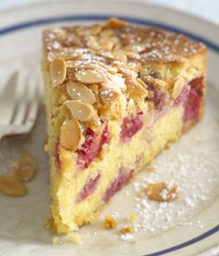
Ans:
{"label": "raspberry streak along the slice's lower right bottom edge, near the plate", "polygon": [[112,197],[117,191],[119,191],[125,184],[128,183],[130,178],[133,177],[134,169],[131,169],[130,171],[122,171],[120,169],[120,172],[117,176],[117,178],[114,179],[114,181],[111,183],[111,185],[107,188],[103,200],[107,202],[110,197]]}

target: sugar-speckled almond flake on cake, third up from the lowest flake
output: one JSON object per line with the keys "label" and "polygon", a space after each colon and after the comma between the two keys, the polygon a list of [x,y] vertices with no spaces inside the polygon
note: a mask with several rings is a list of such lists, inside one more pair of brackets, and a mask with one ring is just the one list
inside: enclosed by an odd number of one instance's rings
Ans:
{"label": "sugar-speckled almond flake on cake, third up from the lowest flake", "polygon": [[94,93],[83,83],[68,81],[66,91],[73,100],[81,100],[91,105],[96,101]]}

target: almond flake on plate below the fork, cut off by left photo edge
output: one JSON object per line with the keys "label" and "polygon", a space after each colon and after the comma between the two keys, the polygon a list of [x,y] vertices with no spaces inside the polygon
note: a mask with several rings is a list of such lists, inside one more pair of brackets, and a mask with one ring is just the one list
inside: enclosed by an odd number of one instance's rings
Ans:
{"label": "almond flake on plate below the fork, cut off by left photo edge", "polygon": [[0,192],[21,196],[27,194],[27,187],[16,178],[9,177],[7,175],[0,176]]}

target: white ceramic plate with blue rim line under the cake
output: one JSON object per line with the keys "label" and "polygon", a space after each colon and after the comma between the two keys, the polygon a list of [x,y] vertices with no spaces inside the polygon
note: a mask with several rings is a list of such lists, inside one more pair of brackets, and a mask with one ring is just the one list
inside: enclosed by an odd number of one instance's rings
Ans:
{"label": "white ceramic plate with blue rim line under the cake", "polygon": [[[138,214],[130,240],[105,231],[103,217],[84,227],[84,244],[52,245],[53,235],[45,228],[48,216],[48,156],[44,152],[45,112],[31,135],[7,138],[0,143],[0,172],[7,172],[23,151],[38,162],[38,173],[23,198],[0,195],[0,255],[197,255],[219,243],[219,28],[207,21],[141,3],[115,1],[61,1],[1,13],[0,90],[13,71],[39,68],[41,32],[44,28],[104,21],[117,16],[141,25],[179,31],[209,47],[206,114],[200,123],[155,162],[156,172],[142,172],[136,181],[117,192],[107,213],[116,215],[119,227],[131,212]],[[0,109],[1,113],[1,109]],[[1,113],[2,115],[3,113]],[[183,189],[178,202],[157,204],[134,199],[148,180],[173,180]],[[143,230],[144,229],[144,230]],[[64,239],[64,238],[62,238]],[[214,255],[217,249],[213,249]]]}

